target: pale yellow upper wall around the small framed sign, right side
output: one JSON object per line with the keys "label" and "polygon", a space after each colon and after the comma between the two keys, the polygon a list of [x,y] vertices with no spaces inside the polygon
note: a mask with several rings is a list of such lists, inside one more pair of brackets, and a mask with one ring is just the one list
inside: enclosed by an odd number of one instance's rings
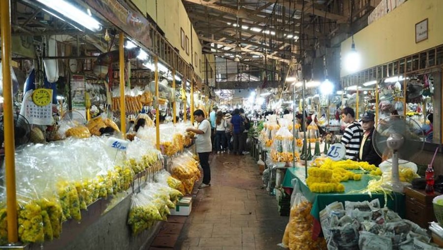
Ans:
{"label": "pale yellow upper wall around the small framed sign, right side", "polygon": [[[394,61],[443,43],[442,0],[408,0],[354,35],[361,56],[358,71]],[[415,43],[415,24],[428,18],[428,39]],[[342,62],[351,48],[349,37],[341,43]],[[340,76],[348,75],[343,65]]]}

